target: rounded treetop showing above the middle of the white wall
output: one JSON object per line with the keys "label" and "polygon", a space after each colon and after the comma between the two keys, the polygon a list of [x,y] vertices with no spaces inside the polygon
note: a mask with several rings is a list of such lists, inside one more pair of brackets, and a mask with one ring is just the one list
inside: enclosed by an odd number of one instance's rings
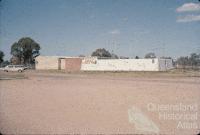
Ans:
{"label": "rounded treetop showing above the middle of the white wall", "polygon": [[97,56],[99,58],[103,58],[103,57],[107,57],[107,58],[111,58],[111,53],[109,51],[107,51],[104,48],[99,48],[96,49],[93,53],[92,56]]}

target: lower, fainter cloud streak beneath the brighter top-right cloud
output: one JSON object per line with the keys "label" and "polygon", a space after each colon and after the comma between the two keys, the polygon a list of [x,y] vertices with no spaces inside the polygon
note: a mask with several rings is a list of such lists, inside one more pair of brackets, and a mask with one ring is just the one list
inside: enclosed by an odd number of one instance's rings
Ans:
{"label": "lower, fainter cloud streak beneath the brighter top-right cloud", "polygon": [[200,21],[200,15],[186,15],[182,17],[178,17],[177,22],[193,22]]}

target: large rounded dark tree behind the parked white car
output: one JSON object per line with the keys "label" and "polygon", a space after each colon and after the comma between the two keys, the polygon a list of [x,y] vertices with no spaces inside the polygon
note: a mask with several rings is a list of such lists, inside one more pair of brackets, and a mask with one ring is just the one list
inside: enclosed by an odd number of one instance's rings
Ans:
{"label": "large rounded dark tree behind the parked white car", "polygon": [[40,45],[30,37],[23,37],[11,46],[11,54],[20,64],[33,64],[35,57],[40,55]]}

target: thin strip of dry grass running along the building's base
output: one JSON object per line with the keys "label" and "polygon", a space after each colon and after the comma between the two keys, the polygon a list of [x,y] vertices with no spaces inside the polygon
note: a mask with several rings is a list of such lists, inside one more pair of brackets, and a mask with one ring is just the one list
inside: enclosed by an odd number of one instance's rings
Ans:
{"label": "thin strip of dry grass running along the building's base", "polygon": [[[77,71],[65,70],[27,70],[24,73],[12,73],[11,76],[25,76],[34,74],[46,75],[91,75],[91,76],[122,76],[122,77],[200,77],[200,70],[172,69],[169,71]],[[25,75],[24,75],[25,74]],[[9,74],[6,74],[9,75]]]}

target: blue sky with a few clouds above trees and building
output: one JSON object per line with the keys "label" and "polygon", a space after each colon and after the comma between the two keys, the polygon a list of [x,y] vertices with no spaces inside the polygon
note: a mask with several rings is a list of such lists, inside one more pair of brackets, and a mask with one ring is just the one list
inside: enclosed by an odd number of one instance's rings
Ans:
{"label": "blue sky with a few clouds above trees and building", "polygon": [[31,37],[41,55],[189,55],[200,51],[198,0],[1,0],[0,50]]}

